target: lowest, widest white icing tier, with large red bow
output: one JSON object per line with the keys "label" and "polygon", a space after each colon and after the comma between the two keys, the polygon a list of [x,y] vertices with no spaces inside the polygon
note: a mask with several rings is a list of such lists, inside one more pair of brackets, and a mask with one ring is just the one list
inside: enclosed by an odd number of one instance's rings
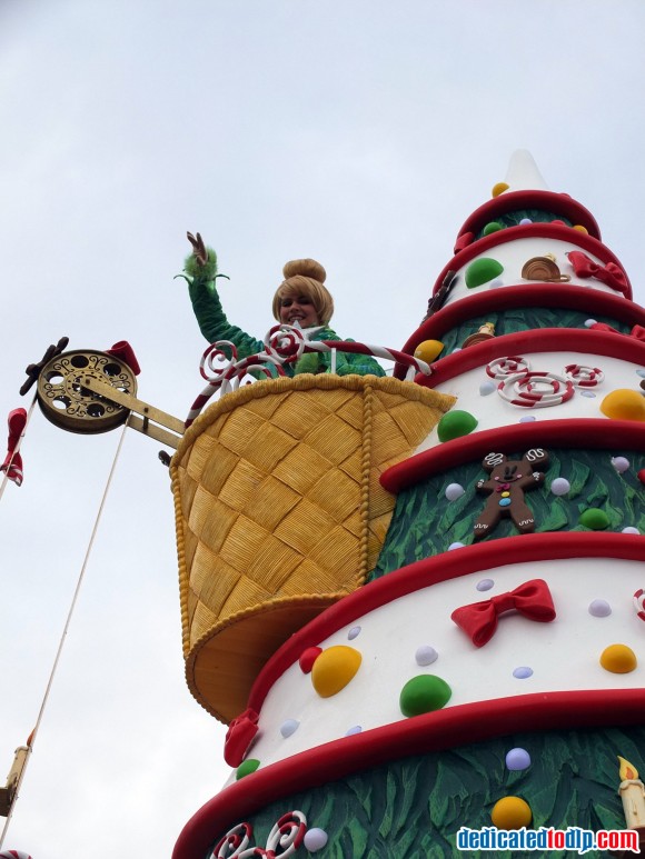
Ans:
{"label": "lowest, widest white icing tier, with large red bow", "polygon": [[[503,556],[502,541],[499,552]],[[492,640],[477,648],[450,619],[460,606],[535,578],[546,580],[550,589],[557,612],[552,622],[532,621],[515,612],[503,615]],[[493,587],[477,590],[484,579],[492,579]],[[405,719],[399,695],[418,675],[435,675],[448,683],[453,695],[446,708],[535,692],[643,687],[645,623],[633,605],[634,592],[643,586],[644,568],[638,561],[556,559],[486,569],[395,599],[319,642],[322,649],[353,647],[363,657],[354,679],[337,695],[321,698],[311,676],[302,673],[297,662],[287,669],[262,703],[260,732],[248,757],[266,767],[340,739],[356,726],[365,731]],[[593,600],[607,601],[612,613],[593,617],[588,611]],[[356,627],[360,632],[349,639],[349,630]],[[631,673],[606,671],[599,656],[614,643],[631,647],[643,665]],[[437,651],[436,661],[417,665],[415,653],[423,646]],[[530,668],[533,675],[514,677],[519,667]],[[289,719],[299,726],[285,738],[280,726]]]}

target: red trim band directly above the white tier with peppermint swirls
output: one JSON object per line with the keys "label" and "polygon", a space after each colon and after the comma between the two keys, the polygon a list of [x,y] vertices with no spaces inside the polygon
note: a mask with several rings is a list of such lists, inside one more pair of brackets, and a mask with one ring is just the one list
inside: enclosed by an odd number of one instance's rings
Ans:
{"label": "red trim band directly above the white tier with peppermint swirls", "polygon": [[484,369],[488,361],[503,356],[565,350],[604,354],[607,358],[633,361],[637,364],[645,363],[645,342],[631,334],[577,328],[535,328],[529,331],[493,337],[490,340],[453,352],[431,364],[431,376],[419,373],[416,381],[426,388],[436,388],[437,384],[468,370],[475,370],[477,367]]}

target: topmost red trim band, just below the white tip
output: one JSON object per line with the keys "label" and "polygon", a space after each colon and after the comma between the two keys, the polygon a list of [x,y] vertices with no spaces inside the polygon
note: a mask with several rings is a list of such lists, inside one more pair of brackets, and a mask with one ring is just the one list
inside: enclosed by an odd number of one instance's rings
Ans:
{"label": "topmost red trim band, just below the white tip", "polygon": [[[573,223],[579,223],[582,227],[585,227],[596,239],[601,238],[601,228],[596,219],[582,203],[566,193],[539,190],[505,191],[498,197],[487,200],[468,217],[459,230],[459,238],[465,232],[477,233],[489,221],[494,221],[500,214],[516,212],[519,209],[542,209],[543,211],[564,216]],[[565,229],[570,230],[572,228],[565,226]],[[576,232],[579,232],[579,230],[576,230]],[[580,236],[584,236],[584,233],[580,233]]]}

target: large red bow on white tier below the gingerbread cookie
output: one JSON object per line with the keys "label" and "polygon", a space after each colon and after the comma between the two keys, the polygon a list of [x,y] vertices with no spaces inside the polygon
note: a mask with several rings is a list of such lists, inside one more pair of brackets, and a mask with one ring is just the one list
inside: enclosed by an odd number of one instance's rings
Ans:
{"label": "large red bow on white tier below the gingerbread cookie", "polygon": [[483,602],[473,602],[455,609],[450,617],[473,639],[475,647],[484,647],[497,629],[497,618],[515,609],[529,620],[548,623],[555,618],[553,597],[544,579],[532,579],[508,593],[500,593]]}

